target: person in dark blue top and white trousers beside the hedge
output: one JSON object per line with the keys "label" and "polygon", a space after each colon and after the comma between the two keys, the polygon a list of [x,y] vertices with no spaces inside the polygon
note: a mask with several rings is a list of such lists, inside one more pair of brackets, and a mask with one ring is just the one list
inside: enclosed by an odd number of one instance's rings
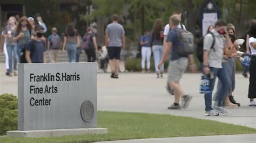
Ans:
{"label": "person in dark blue top and white trousers beside the hedge", "polygon": [[142,45],[142,73],[146,73],[145,62],[147,63],[147,73],[150,73],[150,31],[146,31],[145,35],[140,38],[140,45]]}

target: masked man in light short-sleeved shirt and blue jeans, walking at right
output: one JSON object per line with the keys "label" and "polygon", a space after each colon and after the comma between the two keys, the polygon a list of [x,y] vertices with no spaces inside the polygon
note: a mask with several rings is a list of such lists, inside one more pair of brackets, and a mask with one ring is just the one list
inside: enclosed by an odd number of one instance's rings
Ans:
{"label": "masked man in light short-sleeved shirt and blue jeans, walking at right", "polygon": [[[225,20],[218,20],[212,31],[214,37],[212,34],[207,34],[204,38],[203,74],[210,77],[210,92],[205,94],[205,116],[231,115],[231,112],[227,111],[223,106],[223,102],[230,90],[231,82],[228,78],[227,69],[223,68],[222,61],[223,53],[225,52],[227,58],[230,58],[235,46],[231,46],[232,41],[226,32],[226,25]],[[211,48],[213,40],[215,42],[213,48]],[[231,48],[228,49],[228,47]],[[217,104],[212,107],[212,91],[216,77],[218,77],[223,86],[220,87]]]}

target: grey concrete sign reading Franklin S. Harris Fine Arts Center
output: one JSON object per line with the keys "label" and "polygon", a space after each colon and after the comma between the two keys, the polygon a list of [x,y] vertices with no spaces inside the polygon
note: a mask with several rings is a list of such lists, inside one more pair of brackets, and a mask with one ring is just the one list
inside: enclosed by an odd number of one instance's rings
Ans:
{"label": "grey concrete sign reading Franklin S. Harris Fine Arts Center", "polygon": [[18,65],[18,131],[7,134],[34,137],[32,131],[39,137],[107,132],[97,128],[96,63]]}

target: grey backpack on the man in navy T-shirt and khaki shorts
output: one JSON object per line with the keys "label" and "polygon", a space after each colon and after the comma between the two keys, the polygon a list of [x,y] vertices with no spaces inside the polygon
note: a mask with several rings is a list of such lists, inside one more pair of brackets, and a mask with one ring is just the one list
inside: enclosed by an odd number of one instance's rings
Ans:
{"label": "grey backpack on the man in navy T-shirt and khaki shorts", "polygon": [[181,28],[176,29],[178,35],[177,53],[180,57],[186,57],[194,52],[194,35]]}

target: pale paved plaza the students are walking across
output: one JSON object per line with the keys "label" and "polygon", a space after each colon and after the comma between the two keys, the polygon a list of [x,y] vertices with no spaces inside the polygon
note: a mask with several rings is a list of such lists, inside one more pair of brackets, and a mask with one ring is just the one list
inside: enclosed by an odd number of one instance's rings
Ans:
{"label": "pale paved plaza the students are walking across", "polygon": [[[4,74],[4,64],[0,63],[0,94],[17,95],[17,77],[8,77]],[[256,128],[256,108],[248,106],[249,81],[248,78],[242,77],[240,73],[236,75],[234,96],[241,106],[228,109],[233,112],[230,116],[218,117],[204,116],[204,95],[199,94],[200,74],[186,73],[181,80],[181,86],[184,90],[193,95],[190,106],[185,110],[167,109],[173,103],[174,96],[167,94],[165,90],[166,76],[167,74],[164,74],[164,78],[157,79],[154,73],[121,73],[119,79],[113,79],[110,78],[110,73],[99,73],[98,110],[186,116]],[[256,140],[255,134],[249,136],[251,138],[248,138],[250,139],[248,141]],[[241,136],[241,138],[247,137]],[[176,141],[176,139],[173,138],[172,141]],[[164,139],[162,142],[165,142]]]}

